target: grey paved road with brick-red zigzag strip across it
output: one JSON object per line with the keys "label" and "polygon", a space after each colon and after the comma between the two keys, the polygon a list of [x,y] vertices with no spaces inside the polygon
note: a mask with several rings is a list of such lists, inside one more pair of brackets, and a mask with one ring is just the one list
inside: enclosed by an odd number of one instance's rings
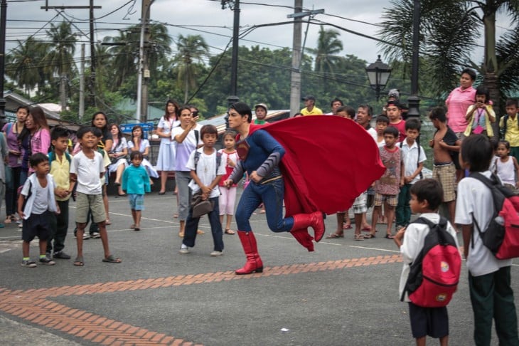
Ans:
{"label": "grey paved road with brick-red zigzag strip across it", "polygon": [[[122,264],[102,263],[100,239],[90,239],[82,268],[63,260],[22,268],[20,232],[0,229],[1,345],[414,345],[392,241],[354,241],[350,230],[309,253],[256,214],[266,268],[235,276],[245,263],[237,236],[225,235],[225,255],[210,257],[205,218],[206,234],[181,255],[175,197],[154,193],[145,204],[141,231],[131,231],[127,199],[110,196],[109,244]],[[335,216],[326,225],[333,231]],[[75,256],[69,231],[66,251]],[[517,266],[512,277],[519,292]],[[451,345],[472,345],[466,268],[449,315]]]}

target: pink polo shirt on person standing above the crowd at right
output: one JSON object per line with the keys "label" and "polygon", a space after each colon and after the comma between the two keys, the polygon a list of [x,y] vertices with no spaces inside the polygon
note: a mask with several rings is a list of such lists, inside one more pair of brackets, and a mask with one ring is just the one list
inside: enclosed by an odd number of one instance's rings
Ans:
{"label": "pink polo shirt on person standing above the crowd at right", "polygon": [[447,125],[454,132],[465,132],[468,122],[465,120],[467,109],[474,103],[476,99],[476,89],[470,87],[464,90],[458,87],[451,91],[449,97],[445,101],[447,106]]}

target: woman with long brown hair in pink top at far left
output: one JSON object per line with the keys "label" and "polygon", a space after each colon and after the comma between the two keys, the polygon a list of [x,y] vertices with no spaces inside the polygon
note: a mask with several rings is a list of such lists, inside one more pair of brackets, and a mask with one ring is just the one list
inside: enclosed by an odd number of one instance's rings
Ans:
{"label": "woman with long brown hair in pink top at far left", "polygon": [[[48,154],[50,132],[43,109],[40,107],[32,108],[27,116],[25,126],[29,131],[29,157],[37,152]],[[34,172],[33,167],[28,168],[29,174]]]}

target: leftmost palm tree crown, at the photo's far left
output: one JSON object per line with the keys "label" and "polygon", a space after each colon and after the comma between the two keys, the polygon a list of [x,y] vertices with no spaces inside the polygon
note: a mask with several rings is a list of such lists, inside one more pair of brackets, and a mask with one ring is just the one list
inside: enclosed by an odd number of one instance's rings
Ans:
{"label": "leftmost palm tree crown, at the photo's far left", "polygon": [[41,61],[45,56],[45,48],[41,41],[29,36],[24,43],[18,41],[18,46],[7,56],[6,75],[16,80],[16,84],[23,88],[29,98],[31,98],[31,90],[42,82]]}

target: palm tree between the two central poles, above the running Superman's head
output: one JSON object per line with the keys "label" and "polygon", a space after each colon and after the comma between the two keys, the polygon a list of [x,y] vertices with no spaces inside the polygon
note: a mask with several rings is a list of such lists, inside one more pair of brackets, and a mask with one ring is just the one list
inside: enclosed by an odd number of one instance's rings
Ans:
{"label": "palm tree between the two central poles, above the running Superman's head", "polygon": [[178,85],[184,83],[184,103],[188,102],[189,87],[196,86],[196,65],[193,61],[202,63],[202,58],[208,55],[209,47],[200,35],[178,36],[176,44],[178,52],[176,61],[178,62]]}

